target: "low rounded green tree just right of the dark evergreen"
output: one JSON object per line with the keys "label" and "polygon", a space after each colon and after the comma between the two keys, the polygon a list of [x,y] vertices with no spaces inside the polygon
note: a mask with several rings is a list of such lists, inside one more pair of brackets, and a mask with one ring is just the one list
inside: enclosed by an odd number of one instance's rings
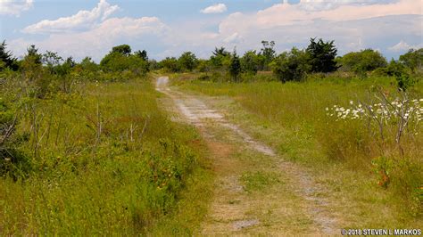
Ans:
{"label": "low rounded green tree just right of the dark evergreen", "polygon": [[356,74],[363,74],[374,69],[386,67],[387,65],[384,56],[372,49],[346,53],[340,58],[339,62],[342,69],[351,70]]}

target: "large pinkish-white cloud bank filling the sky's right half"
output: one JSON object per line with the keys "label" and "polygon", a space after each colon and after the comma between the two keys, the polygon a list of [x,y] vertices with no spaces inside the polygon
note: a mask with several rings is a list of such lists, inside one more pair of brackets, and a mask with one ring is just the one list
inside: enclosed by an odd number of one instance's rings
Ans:
{"label": "large pinkish-white cloud bank filling the sky's right half", "polygon": [[[243,45],[260,46],[262,39],[275,40],[281,50],[307,44],[310,37],[336,39],[340,52],[383,45],[386,50],[401,37],[421,41],[420,0],[394,2],[340,1],[343,4],[321,11],[309,11],[305,4],[333,1],[302,0],[299,4],[275,4],[255,13],[235,12],[220,22],[219,34],[224,39],[234,33],[244,39]],[[352,2],[352,1],[350,1]],[[239,22],[243,22],[240,24]],[[393,42],[393,41],[396,42]],[[344,49],[344,50],[343,50]]]}

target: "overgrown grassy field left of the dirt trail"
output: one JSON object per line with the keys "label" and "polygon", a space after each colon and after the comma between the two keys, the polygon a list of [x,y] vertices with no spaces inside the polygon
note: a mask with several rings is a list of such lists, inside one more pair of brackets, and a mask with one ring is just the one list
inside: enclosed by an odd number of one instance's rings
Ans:
{"label": "overgrown grassy field left of the dirt trail", "polygon": [[0,233],[186,235],[198,227],[211,192],[205,148],[194,128],[158,108],[149,78],[79,82],[42,100],[6,90],[21,88],[15,83],[2,85],[2,100],[21,104],[25,142],[19,160],[2,167]]}

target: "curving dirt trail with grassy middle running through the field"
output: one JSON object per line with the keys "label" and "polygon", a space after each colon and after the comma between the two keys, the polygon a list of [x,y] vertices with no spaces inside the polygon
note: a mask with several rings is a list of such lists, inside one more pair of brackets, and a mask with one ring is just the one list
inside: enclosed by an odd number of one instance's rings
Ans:
{"label": "curving dirt trail with grassy middle running through the field", "polygon": [[156,90],[167,95],[162,102],[179,120],[199,129],[217,176],[200,234],[338,233],[328,200],[319,195],[324,188],[303,168],[278,157],[269,146],[212,110],[200,96],[181,93],[168,84],[167,77],[156,81]]}

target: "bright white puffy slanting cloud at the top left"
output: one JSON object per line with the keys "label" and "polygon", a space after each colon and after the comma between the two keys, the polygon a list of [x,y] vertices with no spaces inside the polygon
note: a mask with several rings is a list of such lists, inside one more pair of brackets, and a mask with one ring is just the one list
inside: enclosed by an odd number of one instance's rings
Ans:
{"label": "bright white puffy slanting cloud at the top left", "polygon": [[91,29],[100,20],[106,20],[113,12],[119,10],[118,5],[111,5],[106,0],[100,0],[91,11],[79,11],[70,17],[62,17],[57,20],[41,20],[36,24],[22,30],[24,33],[60,33],[72,32],[81,29]]}

